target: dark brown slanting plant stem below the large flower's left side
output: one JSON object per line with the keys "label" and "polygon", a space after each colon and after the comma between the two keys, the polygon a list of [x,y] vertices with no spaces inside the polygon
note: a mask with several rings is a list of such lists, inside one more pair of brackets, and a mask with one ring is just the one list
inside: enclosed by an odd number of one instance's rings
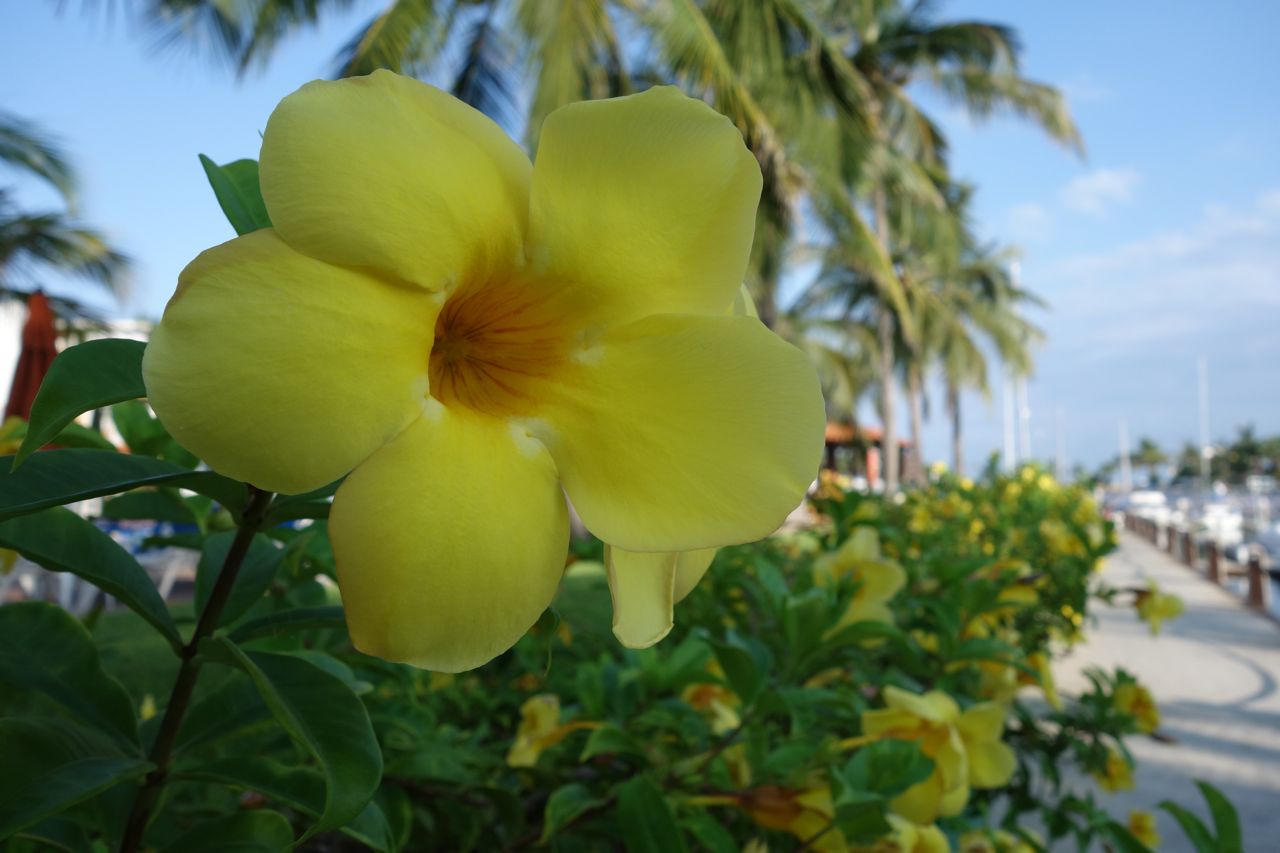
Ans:
{"label": "dark brown slanting plant stem below the large flower's left side", "polygon": [[236,585],[236,575],[239,573],[241,564],[244,562],[244,555],[248,553],[253,535],[261,526],[266,510],[271,505],[271,497],[274,497],[271,492],[262,492],[252,485],[248,487],[248,506],[241,515],[239,529],[236,532],[232,547],[218,573],[218,580],[214,581],[214,589],[209,593],[209,601],[205,602],[205,608],[200,613],[200,621],[196,622],[196,631],[191,635],[191,640],[182,647],[182,665],[178,667],[178,678],[174,679],[169,703],[165,706],[164,719],[160,721],[160,730],[156,733],[148,756],[155,768],[147,774],[133,797],[133,808],[129,811],[129,821],[124,827],[124,840],[120,843],[122,853],[137,853],[142,844],[142,834],[147,829],[151,811],[160,799],[160,792],[169,775],[169,757],[178,739],[178,730],[182,727],[182,720],[191,704],[191,694],[196,689],[196,679],[200,675],[200,661],[196,658],[196,652],[200,648],[200,642],[218,628],[218,617],[221,616],[223,607],[230,598],[232,588]]}

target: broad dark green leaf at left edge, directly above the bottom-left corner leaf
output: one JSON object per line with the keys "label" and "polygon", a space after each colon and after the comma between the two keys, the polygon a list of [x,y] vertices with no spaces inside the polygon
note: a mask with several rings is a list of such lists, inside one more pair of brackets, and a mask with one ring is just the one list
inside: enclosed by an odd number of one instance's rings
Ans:
{"label": "broad dark green leaf at left edge, directly above the bottom-left corner leaf", "polygon": [[93,638],[61,607],[38,601],[0,607],[0,681],[46,695],[132,749],[138,747],[129,694],[102,671]]}

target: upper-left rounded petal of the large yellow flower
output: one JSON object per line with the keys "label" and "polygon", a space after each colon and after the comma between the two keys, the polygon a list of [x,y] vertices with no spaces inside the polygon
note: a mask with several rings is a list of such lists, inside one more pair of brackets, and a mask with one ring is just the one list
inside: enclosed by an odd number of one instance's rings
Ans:
{"label": "upper-left rounded petal of the large yellow flower", "polygon": [[266,124],[262,199],[294,248],[440,289],[521,257],[529,158],[479,110],[387,70],[315,81]]}

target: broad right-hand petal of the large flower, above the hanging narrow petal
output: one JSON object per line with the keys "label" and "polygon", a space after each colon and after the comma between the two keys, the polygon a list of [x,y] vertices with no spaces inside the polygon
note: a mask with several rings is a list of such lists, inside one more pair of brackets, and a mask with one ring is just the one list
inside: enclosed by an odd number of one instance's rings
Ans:
{"label": "broad right-hand petal of the large flower, above the hanging narrow petal", "polygon": [[758,320],[650,316],[607,330],[530,423],[588,529],[627,551],[772,533],[822,452],[813,366]]}

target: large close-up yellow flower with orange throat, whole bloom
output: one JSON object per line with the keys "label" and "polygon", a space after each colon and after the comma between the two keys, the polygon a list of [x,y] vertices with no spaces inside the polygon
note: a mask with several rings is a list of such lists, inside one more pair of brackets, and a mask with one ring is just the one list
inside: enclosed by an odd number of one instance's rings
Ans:
{"label": "large close-up yellow flower with orange throat, whole bloom", "polygon": [[704,102],[571,104],[532,165],[380,70],[285,97],[260,173],[273,227],[183,270],[143,378],[225,475],[347,475],[329,532],[362,651],[461,671],[511,648],[559,583],[566,496],[612,546],[622,642],[655,642],[707,567],[681,552],[800,503],[822,393],[740,298],[760,170]]}

